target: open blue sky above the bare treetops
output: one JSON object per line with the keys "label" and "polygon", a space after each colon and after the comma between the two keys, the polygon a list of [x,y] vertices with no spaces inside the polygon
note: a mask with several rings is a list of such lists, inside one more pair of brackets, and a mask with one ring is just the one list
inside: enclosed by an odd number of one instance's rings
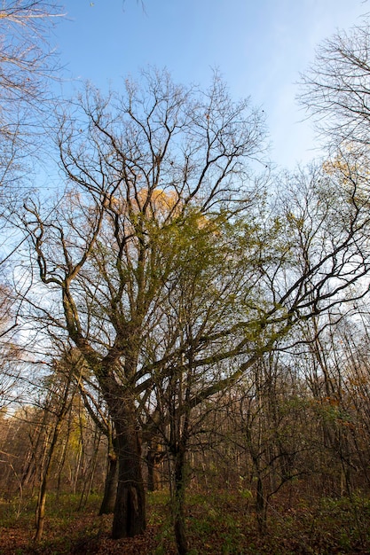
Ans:
{"label": "open blue sky above the bare treetops", "polygon": [[[361,22],[361,0],[65,0],[55,28],[65,74],[106,89],[147,65],[167,67],[178,82],[207,86],[212,68],[234,98],[264,108],[272,160],[311,160],[311,123],[295,102],[296,82],[315,47],[335,30]],[[73,82],[63,85],[66,93]]]}

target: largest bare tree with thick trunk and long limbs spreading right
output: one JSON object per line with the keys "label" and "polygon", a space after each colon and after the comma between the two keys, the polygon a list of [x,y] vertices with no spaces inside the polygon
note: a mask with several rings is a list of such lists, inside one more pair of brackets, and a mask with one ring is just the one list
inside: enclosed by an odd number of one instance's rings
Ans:
{"label": "largest bare tree with thick trunk and long limbs spreading right", "polygon": [[39,277],[28,306],[74,342],[114,420],[116,538],[146,528],[144,409],[146,428],[180,426],[167,440],[181,502],[190,411],[302,319],[367,292],[354,184],[336,168],[288,176],[264,212],[250,168],[263,139],[261,114],[217,75],[203,91],[145,72],[123,96],[88,88],[63,115],[66,192],[27,203]]}

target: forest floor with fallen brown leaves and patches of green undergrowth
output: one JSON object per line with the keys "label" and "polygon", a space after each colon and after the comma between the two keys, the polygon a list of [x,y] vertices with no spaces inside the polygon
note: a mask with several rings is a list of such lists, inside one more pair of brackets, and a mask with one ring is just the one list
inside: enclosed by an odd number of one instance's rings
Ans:
{"label": "forest floor with fallen brown leaves and patches of green undergrowth", "polygon": [[[279,503],[278,503],[279,501]],[[43,540],[34,543],[35,501],[0,501],[0,555],[174,555],[168,496],[148,496],[145,535],[112,540],[110,516],[98,517],[98,496],[78,510],[76,496],[50,496]],[[370,499],[318,499],[269,507],[267,528],[258,532],[246,492],[190,493],[186,506],[189,555],[333,555],[370,553]]]}

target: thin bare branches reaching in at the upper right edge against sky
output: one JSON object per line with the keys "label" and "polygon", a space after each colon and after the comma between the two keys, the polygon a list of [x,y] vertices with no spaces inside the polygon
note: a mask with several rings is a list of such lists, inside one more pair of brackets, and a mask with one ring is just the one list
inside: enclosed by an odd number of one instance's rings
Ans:
{"label": "thin bare branches reaching in at the upper right edge against sky", "polygon": [[[368,17],[319,45],[302,76],[299,99],[319,132],[334,145],[368,158],[370,27]],[[350,147],[350,148],[349,148]]]}

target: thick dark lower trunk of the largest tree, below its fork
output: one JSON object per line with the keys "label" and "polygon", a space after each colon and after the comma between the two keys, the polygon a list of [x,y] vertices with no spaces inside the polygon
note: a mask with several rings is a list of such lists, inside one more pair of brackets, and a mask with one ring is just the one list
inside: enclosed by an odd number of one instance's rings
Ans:
{"label": "thick dark lower trunk of the largest tree, below its fork", "polygon": [[118,451],[118,487],[112,529],[114,539],[132,537],[146,530],[146,497],[135,410],[122,407],[120,412],[120,417],[114,418]]}

